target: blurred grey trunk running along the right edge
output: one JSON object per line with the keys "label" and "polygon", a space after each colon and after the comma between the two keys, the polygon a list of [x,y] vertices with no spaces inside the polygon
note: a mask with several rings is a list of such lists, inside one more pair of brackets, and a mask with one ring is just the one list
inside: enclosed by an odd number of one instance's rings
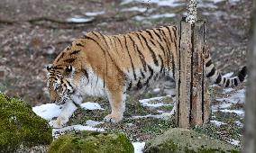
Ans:
{"label": "blurred grey trunk running along the right edge", "polygon": [[248,51],[249,77],[247,83],[246,103],[245,103],[245,153],[256,152],[256,0],[253,4],[253,13],[251,16],[251,47]]}

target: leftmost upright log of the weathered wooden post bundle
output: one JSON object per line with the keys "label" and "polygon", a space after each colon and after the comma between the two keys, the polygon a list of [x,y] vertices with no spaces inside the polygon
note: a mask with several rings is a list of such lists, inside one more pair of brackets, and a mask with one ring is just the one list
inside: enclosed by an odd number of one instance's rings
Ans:
{"label": "leftmost upright log of the weathered wooden post bundle", "polygon": [[178,127],[189,127],[190,112],[190,84],[191,84],[191,43],[192,29],[189,23],[181,21],[180,23],[180,49],[178,52],[178,69],[176,77],[176,85],[178,86],[177,99],[177,124]]}

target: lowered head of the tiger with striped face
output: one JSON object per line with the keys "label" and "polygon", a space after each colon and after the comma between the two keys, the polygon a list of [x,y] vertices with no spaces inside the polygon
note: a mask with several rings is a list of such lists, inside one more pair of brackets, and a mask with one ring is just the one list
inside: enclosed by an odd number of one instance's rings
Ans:
{"label": "lowered head of the tiger with striped face", "polygon": [[70,99],[70,95],[76,92],[73,85],[75,68],[71,65],[62,67],[47,67],[47,86],[50,94],[50,102],[63,104]]}

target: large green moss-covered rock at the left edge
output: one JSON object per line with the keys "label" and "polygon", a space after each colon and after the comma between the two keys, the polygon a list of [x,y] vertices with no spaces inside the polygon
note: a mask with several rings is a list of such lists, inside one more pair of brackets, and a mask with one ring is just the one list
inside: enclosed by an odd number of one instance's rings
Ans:
{"label": "large green moss-covered rock at the left edge", "polygon": [[0,93],[0,152],[47,145],[52,141],[48,122],[27,103]]}

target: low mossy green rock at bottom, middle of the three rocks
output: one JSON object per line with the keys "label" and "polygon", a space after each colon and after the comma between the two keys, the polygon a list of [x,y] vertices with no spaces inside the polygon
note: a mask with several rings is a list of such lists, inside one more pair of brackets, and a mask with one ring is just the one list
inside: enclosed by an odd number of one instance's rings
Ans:
{"label": "low mossy green rock at bottom, middle of the three rocks", "polygon": [[130,139],[123,133],[107,133],[90,130],[70,132],[54,140],[49,153],[133,153]]}

